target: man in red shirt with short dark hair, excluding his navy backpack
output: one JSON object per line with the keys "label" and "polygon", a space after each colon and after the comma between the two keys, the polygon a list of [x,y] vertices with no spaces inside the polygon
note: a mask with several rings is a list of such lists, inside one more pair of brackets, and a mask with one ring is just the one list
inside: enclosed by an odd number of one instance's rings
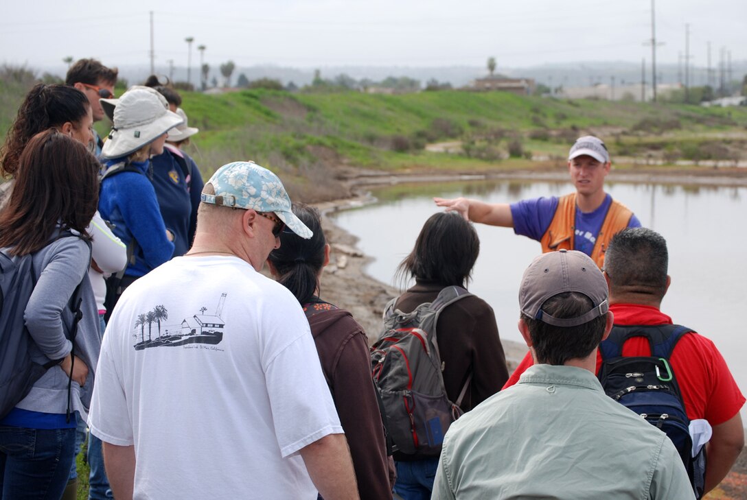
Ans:
{"label": "man in red shirt with short dark hair, excluding his navy backpack", "polygon": [[[660,311],[669,288],[666,240],[647,228],[627,228],[610,241],[604,260],[604,277],[610,287],[610,311],[615,325],[671,325],[672,318]],[[623,356],[650,356],[648,340],[628,340]],[[670,358],[685,411],[690,420],[706,419],[713,436],[706,447],[705,491],[713,490],[728,474],[744,446],[744,428],[740,409],[745,397],[721,353],[706,337],[690,332],[675,346]],[[518,381],[532,366],[529,353],[521,361],[506,385]],[[597,372],[601,356],[597,354]]]}

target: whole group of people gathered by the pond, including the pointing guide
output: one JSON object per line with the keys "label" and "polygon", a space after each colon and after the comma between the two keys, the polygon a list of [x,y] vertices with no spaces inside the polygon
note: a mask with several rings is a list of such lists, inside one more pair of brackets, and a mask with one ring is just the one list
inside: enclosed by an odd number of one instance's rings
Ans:
{"label": "whole group of people gathered by the pond, including the pointing guide", "polygon": [[[436,199],[385,310],[409,326],[373,356],[323,299],[320,213],[251,161],[203,182],[179,93],[152,76],[117,98],[116,82],[84,59],[37,84],[0,149],[2,272],[31,283],[3,338],[28,336],[40,367],[0,415],[1,500],[77,498],[87,435],[90,499],[692,499],[737,460],[745,398],[716,346],[660,311],[666,241],[605,192],[598,137],[571,147],[567,196]],[[474,223],[542,246],[510,377],[492,307],[467,290]],[[657,429],[668,415],[650,425],[603,385],[616,360],[654,355],[692,457]],[[423,363],[435,393],[415,397]]]}

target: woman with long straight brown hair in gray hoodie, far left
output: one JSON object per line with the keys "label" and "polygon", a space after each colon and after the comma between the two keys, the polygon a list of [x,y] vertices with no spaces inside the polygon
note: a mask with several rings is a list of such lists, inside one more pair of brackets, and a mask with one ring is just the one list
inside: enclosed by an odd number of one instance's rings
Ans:
{"label": "woman with long straight brown hair in gray hoodie, far left", "polygon": [[[33,263],[35,285],[24,310],[34,340],[31,359],[58,361],[0,420],[2,499],[58,500],[69,478],[75,428],[87,417],[101,347],[86,277],[98,175],[99,162],[86,146],[54,128],[43,131],[20,154],[0,212],[0,248],[14,257],[31,255]],[[82,316],[75,330],[71,302],[78,287]]]}

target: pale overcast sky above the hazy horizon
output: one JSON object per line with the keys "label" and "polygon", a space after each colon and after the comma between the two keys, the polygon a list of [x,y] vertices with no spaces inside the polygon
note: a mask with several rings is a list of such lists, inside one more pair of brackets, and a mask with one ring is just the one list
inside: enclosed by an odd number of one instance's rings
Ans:
{"label": "pale overcast sky above the hazy horizon", "polygon": [[[651,0],[1,0],[0,63],[187,65],[185,37],[212,66],[485,66],[651,58]],[[677,63],[690,25],[692,63],[722,47],[747,58],[747,0],[657,0],[657,61]]]}

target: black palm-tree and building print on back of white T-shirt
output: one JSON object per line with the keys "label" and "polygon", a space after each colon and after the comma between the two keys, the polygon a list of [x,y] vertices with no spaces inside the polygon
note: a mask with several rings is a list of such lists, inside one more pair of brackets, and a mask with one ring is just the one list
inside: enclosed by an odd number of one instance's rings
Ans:
{"label": "black palm-tree and building print on back of white T-shirt", "polygon": [[157,305],[147,313],[140,313],[134,323],[133,337],[137,340],[135,350],[187,344],[219,344],[223,340],[223,327],[226,325],[220,317],[225,301],[226,293],[223,293],[214,314],[208,314],[208,308],[201,307],[198,314],[184,318],[179,323],[166,323],[169,311],[163,305]]}

